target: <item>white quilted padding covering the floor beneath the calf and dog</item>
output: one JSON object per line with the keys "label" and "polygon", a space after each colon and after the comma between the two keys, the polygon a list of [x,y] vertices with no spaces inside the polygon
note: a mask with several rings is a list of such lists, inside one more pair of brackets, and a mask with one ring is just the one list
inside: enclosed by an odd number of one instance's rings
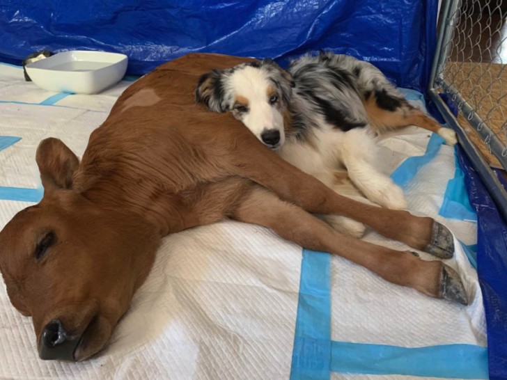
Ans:
{"label": "white quilted padding covering the floor beneath the calf and dog", "polygon": [[[35,151],[42,138],[61,138],[81,156],[89,134],[129,84],[122,81],[100,95],[62,95],[54,101],[54,93],[25,82],[20,68],[0,65],[0,136],[22,138],[0,150],[0,187],[40,187]],[[423,155],[429,137],[427,131],[409,127],[384,138],[382,170],[391,173],[407,157]],[[474,244],[476,223],[438,215],[454,165],[453,148],[442,145],[405,186],[409,210],[435,217],[461,242]],[[33,203],[0,200],[0,228],[29,205]],[[374,232],[365,239],[406,249]],[[485,347],[476,271],[455,243],[455,258],[447,262],[473,296],[467,307],[392,285],[332,257],[331,339],[401,347]],[[421,257],[435,260],[425,253]],[[83,363],[40,361],[31,319],[10,305],[2,282],[0,379],[288,379],[301,264],[301,247],[257,225],[224,221],[166,237],[111,342]],[[371,377],[331,374],[331,379]],[[384,378],[410,377],[375,376]]]}

